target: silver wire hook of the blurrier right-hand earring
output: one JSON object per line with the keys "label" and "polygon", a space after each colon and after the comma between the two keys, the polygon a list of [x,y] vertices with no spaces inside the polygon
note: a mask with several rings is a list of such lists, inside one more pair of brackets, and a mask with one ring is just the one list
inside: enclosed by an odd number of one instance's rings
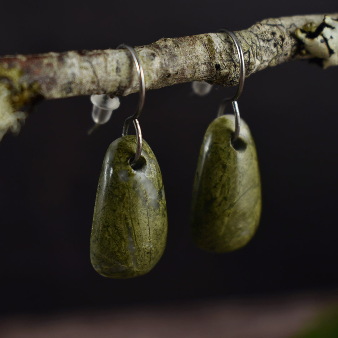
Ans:
{"label": "silver wire hook of the blurrier right-hand earring", "polygon": [[219,106],[218,114],[217,114],[217,116],[223,115],[224,108],[225,108],[226,104],[228,102],[232,102],[232,106],[233,106],[233,110],[234,110],[234,114],[235,114],[235,133],[234,133],[234,136],[232,138],[232,142],[235,142],[238,139],[239,130],[240,130],[240,127],[241,127],[241,118],[240,118],[240,115],[239,115],[237,100],[240,97],[240,95],[242,94],[243,87],[244,87],[244,80],[245,80],[244,54],[243,54],[242,46],[241,46],[241,44],[240,44],[240,42],[239,42],[239,40],[238,40],[238,38],[237,38],[237,36],[234,32],[232,32],[231,30],[228,30],[226,28],[220,29],[219,32],[220,33],[224,32],[224,33],[227,33],[228,35],[230,35],[230,37],[232,38],[232,40],[235,43],[237,53],[238,53],[238,58],[239,58],[240,73],[239,73],[239,83],[238,83],[237,92],[236,92],[236,94],[233,98],[226,98],[222,101],[221,105]]}

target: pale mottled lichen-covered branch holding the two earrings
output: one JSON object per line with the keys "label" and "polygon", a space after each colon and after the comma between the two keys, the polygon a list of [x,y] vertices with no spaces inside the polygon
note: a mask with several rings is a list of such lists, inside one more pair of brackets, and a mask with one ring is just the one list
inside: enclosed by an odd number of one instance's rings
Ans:
{"label": "pale mottled lichen-covered branch holding the two earrings", "polygon": [[[336,19],[338,13],[330,16]],[[301,53],[295,29],[309,23],[319,26],[323,17],[266,19],[236,32],[244,52],[246,76],[291,59],[308,58],[310,55]],[[237,52],[226,33],[163,38],[135,50],[147,90],[201,80],[233,86],[239,79]],[[1,129],[6,128],[1,122],[6,118],[3,110],[8,106],[14,113],[40,98],[103,93],[126,96],[139,90],[134,63],[123,49],[3,56],[0,79],[0,140]]]}

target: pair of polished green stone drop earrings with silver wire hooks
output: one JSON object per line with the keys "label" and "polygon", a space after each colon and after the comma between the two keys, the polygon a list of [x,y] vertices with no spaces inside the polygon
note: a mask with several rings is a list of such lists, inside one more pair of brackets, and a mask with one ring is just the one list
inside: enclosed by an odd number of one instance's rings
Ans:
{"label": "pair of polished green stone drop earrings with silver wire hooks", "polygon": [[[237,104],[245,78],[243,51],[236,35],[223,31],[234,40],[239,55],[239,88],[232,99],[223,100],[218,117],[204,136],[191,209],[194,242],[202,249],[216,252],[244,246],[254,235],[261,213],[255,143],[247,124],[240,120]],[[140,79],[140,100],[136,113],[124,123],[122,137],[111,143],[103,161],[90,257],[101,275],[129,278],[147,273],[159,261],[166,244],[168,221],[161,171],[152,150],[142,139],[138,121],[145,98],[142,66],[133,48],[120,47],[127,48],[134,59]],[[92,97],[93,117],[102,112],[102,116],[111,114],[117,103],[110,100],[114,99],[105,95],[98,103],[98,98]],[[223,115],[228,102],[232,102],[235,115]],[[136,136],[127,135],[130,122],[135,126]]]}

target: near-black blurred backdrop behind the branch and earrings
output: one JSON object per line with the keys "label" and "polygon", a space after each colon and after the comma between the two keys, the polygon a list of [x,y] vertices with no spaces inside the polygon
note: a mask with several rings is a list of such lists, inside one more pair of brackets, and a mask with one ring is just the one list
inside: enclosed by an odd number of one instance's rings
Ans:
{"label": "near-black blurred backdrop behind the branch and earrings", "polygon": [[[335,5],[2,2],[0,55],[140,46],[241,30],[269,17],[332,13]],[[18,137],[0,143],[2,314],[337,288],[337,75],[337,67],[323,71],[298,61],[246,80],[239,106],[256,141],[263,211],[254,239],[223,255],[195,247],[189,214],[204,131],[233,89],[214,86],[202,98],[190,83],[147,92],[140,123],[161,167],[169,231],[158,265],[130,280],[97,274],[89,239],[105,151],[138,95],[121,98],[111,121],[91,137],[89,97],[39,104]]]}

